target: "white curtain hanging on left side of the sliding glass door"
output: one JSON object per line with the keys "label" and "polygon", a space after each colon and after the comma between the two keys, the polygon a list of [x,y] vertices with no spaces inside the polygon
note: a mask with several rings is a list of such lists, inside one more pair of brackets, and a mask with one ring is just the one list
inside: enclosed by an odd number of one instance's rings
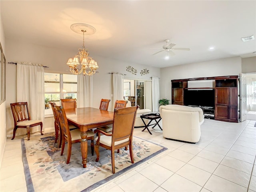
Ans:
{"label": "white curtain hanging on left side of the sliding glass door", "polygon": [[113,109],[116,100],[124,100],[124,75],[113,73]]}

